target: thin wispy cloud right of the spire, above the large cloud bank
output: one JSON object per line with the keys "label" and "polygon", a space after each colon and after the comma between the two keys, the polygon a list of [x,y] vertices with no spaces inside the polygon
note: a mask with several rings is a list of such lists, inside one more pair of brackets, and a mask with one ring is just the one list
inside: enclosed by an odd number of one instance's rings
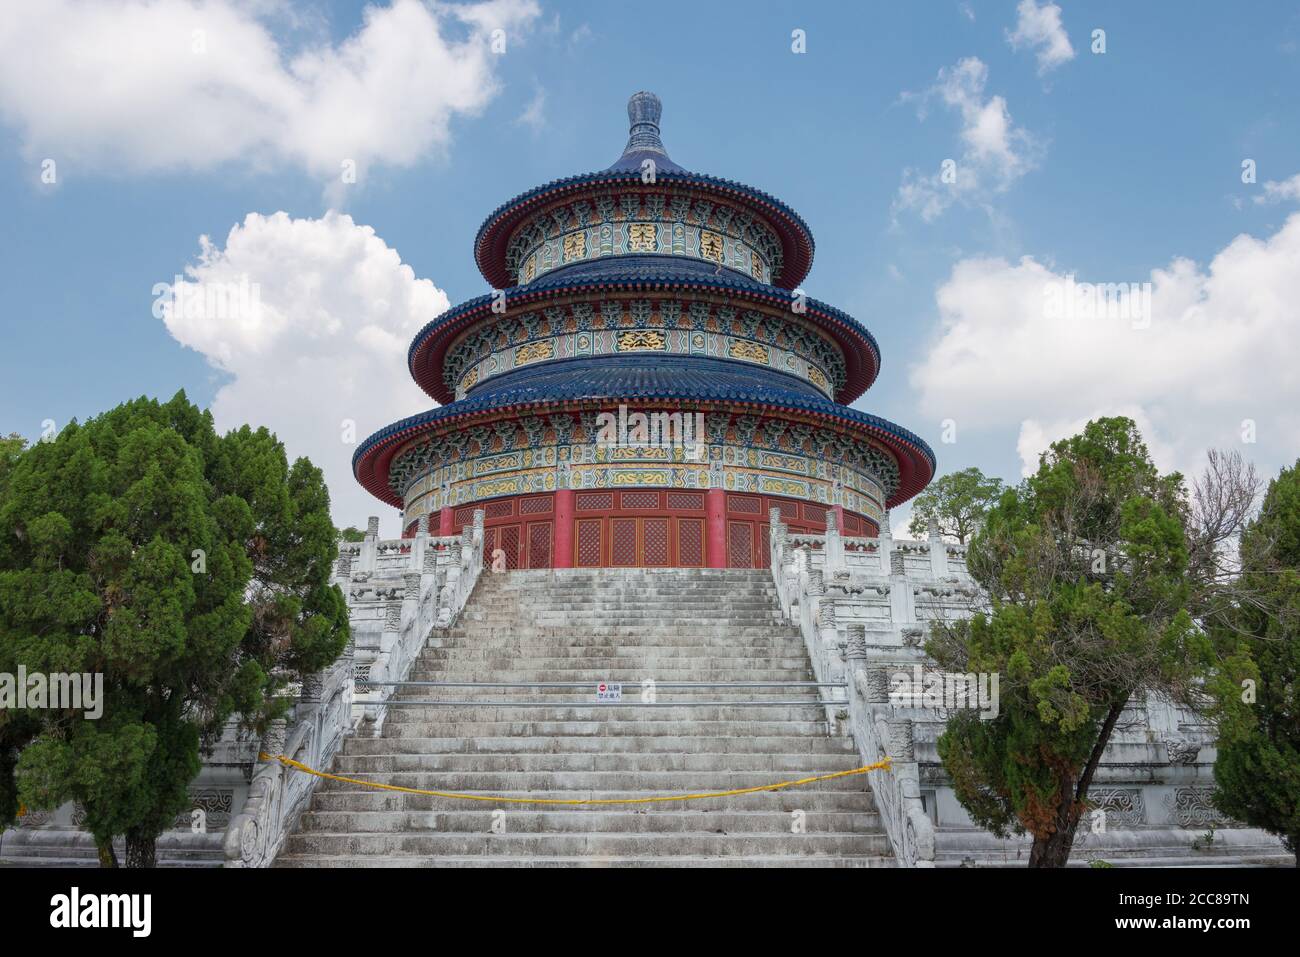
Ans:
{"label": "thin wispy cloud right of the spire, above the large cloud bank", "polygon": [[1015,126],[1005,98],[985,98],[987,85],[988,66],[971,56],[941,69],[928,90],[904,94],[905,101],[918,104],[922,118],[936,100],[961,117],[961,157],[945,160],[931,174],[904,170],[893,203],[896,216],[911,211],[932,222],[953,203],[988,208],[993,194],[1005,192],[1037,165],[1041,146]]}

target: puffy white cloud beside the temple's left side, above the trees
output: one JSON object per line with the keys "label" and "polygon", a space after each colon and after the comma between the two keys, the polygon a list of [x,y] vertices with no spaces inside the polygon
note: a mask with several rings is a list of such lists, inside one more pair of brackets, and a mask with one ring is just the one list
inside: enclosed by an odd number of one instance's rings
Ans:
{"label": "puffy white cloud beside the temple's left side, above the trees", "polygon": [[[306,455],[325,472],[335,524],[380,514],[390,516],[385,533],[396,534],[393,510],[352,477],[356,446],[343,441],[343,421],[356,423],[360,441],[434,404],[407,374],[406,354],[448,307],[446,294],[416,278],[373,229],[333,212],[248,213],[224,248],[199,242],[176,306],[161,312],[181,345],[230,376],[212,403],[217,426],[270,428],[291,458]],[[222,289],[252,295],[222,308],[211,298]]]}

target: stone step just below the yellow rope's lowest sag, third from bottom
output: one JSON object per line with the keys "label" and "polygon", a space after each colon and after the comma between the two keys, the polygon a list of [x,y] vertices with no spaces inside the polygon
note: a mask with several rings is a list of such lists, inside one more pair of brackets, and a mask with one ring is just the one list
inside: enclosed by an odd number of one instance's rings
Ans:
{"label": "stone step just below the yellow rope's lowest sag, third from bottom", "polygon": [[[790,833],[790,811],[758,810],[681,810],[645,809],[601,810],[536,810],[502,809],[482,805],[482,810],[464,811],[325,811],[315,809],[303,820],[303,833],[490,833],[493,823],[506,811],[508,833]],[[802,810],[802,809],[801,809]],[[800,818],[807,833],[859,833],[880,827],[875,811],[810,811]]]}

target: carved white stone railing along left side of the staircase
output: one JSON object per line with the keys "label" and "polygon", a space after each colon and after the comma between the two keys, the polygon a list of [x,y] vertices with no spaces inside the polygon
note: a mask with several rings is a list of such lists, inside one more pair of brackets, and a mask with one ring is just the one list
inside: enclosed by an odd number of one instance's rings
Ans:
{"label": "carved white stone railing along left side of the staircase", "polygon": [[[334,580],[347,597],[352,637],[338,661],[303,681],[290,719],[268,731],[261,750],[269,755],[324,770],[347,735],[380,733],[393,688],[358,692],[354,668],[363,670],[363,680],[406,679],[429,635],[452,624],[473,592],[484,563],[482,510],[460,537],[381,541],[377,528],[372,519],[364,541],[339,546]],[[359,637],[370,642],[364,664]],[[269,867],[318,783],[278,762],[257,765],[248,798],[226,830],[225,866]]]}

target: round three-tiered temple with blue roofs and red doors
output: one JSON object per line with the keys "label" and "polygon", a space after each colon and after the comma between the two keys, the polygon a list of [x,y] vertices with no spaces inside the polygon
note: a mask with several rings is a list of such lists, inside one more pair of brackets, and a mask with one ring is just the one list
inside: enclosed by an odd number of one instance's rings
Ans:
{"label": "round three-tiered temple with blue roofs and red doors", "polygon": [[[798,287],[807,225],[673,163],[660,111],[633,95],[614,165],[529,190],[478,229],[495,291],[436,317],[408,354],[441,404],[352,459],[404,536],[458,534],[482,508],[485,554],[507,568],[764,568],[772,508],[794,532],[875,536],[933,476],[920,438],[848,407],[880,350]],[[610,421],[666,428],[606,441]]]}

